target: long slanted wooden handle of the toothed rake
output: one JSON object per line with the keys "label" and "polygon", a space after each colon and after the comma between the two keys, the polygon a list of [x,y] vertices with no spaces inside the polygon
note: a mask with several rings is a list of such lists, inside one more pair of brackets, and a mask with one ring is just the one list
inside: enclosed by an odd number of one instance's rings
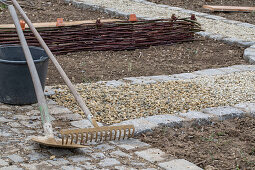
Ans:
{"label": "long slanted wooden handle of the toothed rake", "polygon": [[33,26],[32,22],[29,20],[29,18],[27,17],[27,15],[23,11],[23,9],[20,7],[18,2],[16,0],[12,0],[12,2],[13,2],[13,5],[20,12],[21,16],[26,21],[26,23],[29,26],[29,28],[31,29],[31,31],[34,33],[35,37],[37,38],[37,40],[39,41],[41,46],[44,48],[44,50],[46,51],[46,53],[50,57],[53,64],[56,66],[56,68],[57,68],[58,72],[60,73],[61,77],[64,79],[65,83],[67,84],[67,86],[69,87],[71,92],[73,93],[73,95],[74,95],[76,101],[78,102],[79,106],[81,107],[83,112],[86,114],[88,120],[93,124],[93,126],[98,127],[97,122],[93,119],[93,115],[90,113],[88,107],[85,105],[84,101],[82,100],[82,97],[78,94],[78,92],[76,91],[76,89],[73,86],[72,82],[67,77],[66,73],[64,72],[64,70],[62,69],[62,67],[60,66],[60,64],[58,63],[58,61],[56,60],[56,58],[52,54],[52,52],[50,51],[49,47],[46,45],[46,43],[44,42],[44,40],[42,39],[42,37],[40,36],[38,31]]}

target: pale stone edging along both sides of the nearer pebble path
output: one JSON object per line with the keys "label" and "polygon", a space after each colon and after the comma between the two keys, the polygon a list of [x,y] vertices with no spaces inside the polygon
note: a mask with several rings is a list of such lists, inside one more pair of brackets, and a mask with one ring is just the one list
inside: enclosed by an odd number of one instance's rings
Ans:
{"label": "pale stone edging along both sides of the nearer pebble path", "polygon": [[[255,71],[255,65],[234,65],[230,67],[223,67],[218,69],[204,69],[195,71],[192,73],[181,73],[174,75],[159,75],[159,76],[142,76],[142,77],[127,77],[120,80],[112,81],[100,81],[97,83],[106,84],[107,86],[118,87],[126,83],[130,84],[148,84],[148,83],[158,83],[167,82],[171,80],[185,80],[194,79],[197,77],[207,77],[216,75],[226,75],[236,72],[246,72]],[[53,95],[55,92],[52,89],[53,86],[45,87],[45,95]],[[61,90],[61,89],[60,89]],[[114,125],[126,125],[133,124],[136,129],[136,135],[141,134],[146,131],[151,131],[156,127],[160,126],[190,126],[194,124],[211,124],[213,121],[222,121],[225,119],[252,116],[255,117],[255,103],[239,103],[234,107],[224,106],[224,107],[212,107],[202,109],[200,111],[188,111],[187,113],[178,114],[165,114],[165,115],[154,115],[148,117],[142,117],[138,119],[132,119],[123,121],[121,123],[116,123]],[[74,124],[82,125],[80,128],[90,127],[90,123],[87,119],[73,122]],[[72,124],[72,122],[71,122]],[[102,125],[102,124],[100,124]],[[76,125],[74,125],[76,126]]]}

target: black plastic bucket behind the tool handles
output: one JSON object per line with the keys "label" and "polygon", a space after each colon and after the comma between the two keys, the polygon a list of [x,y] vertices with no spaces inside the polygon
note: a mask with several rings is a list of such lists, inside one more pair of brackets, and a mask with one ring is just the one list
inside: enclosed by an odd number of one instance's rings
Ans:
{"label": "black plastic bucket behind the tool handles", "polygon": [[[29,47],[44,89],[49,57],[39,47]],[[37,103],[34,85],[21,46],[0,46],[0,102]]]}

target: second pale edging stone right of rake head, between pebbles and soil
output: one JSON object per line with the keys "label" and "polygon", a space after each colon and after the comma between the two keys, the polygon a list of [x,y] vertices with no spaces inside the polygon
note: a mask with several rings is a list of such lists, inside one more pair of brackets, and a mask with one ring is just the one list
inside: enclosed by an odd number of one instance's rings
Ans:
{"label": "second pale edging stone right of rake head, between pebbles and soil", "polygon": [[157,124],[157,125],[176,126],[181,124],[181,122],[184,119],[178,116],[165,114],[165,115],[149,116],[149,117],[146,117],[145,120],[148,120],[149,122]]}

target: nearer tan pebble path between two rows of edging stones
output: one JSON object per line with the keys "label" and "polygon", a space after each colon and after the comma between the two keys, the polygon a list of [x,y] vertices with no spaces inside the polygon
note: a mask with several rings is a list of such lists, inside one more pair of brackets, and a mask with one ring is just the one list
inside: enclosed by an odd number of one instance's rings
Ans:
{"label": "nearer tan pebble path between two rows of edging stones", "polygon": [[[76,88],[97,121],[113,124],[152,115],[255,102],[254,73],[253,70],[149,84],[126,82],[119,86],[88,83],[77,84]],[[53,100],[74,113],[83,114],[66,86],[53,86],[53,89],[56,89],[56,94],[51,96]]]}

